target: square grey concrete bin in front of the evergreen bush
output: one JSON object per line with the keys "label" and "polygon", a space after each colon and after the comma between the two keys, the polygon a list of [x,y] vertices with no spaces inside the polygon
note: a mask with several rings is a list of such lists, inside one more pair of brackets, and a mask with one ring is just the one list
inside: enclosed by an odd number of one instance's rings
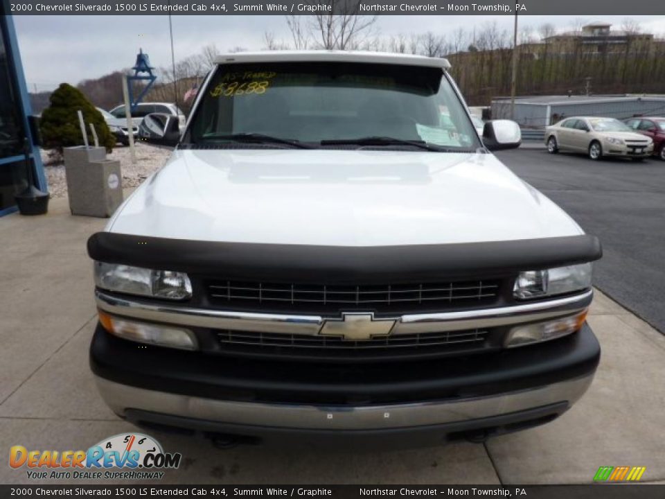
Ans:
{"label": "square grey concrete bin in front of the evergreen bush", "polygon": [[120,161],[106,159],[105,148],[65,148],[64,171],[72,215],[106,218],[123,202]]}

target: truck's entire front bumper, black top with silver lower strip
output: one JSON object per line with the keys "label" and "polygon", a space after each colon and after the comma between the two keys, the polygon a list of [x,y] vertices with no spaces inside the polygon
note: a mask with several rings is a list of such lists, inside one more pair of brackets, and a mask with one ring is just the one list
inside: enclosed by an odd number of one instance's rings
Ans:
{"label": "truck's entire front bumper, black top with silver lower strip", "polygon": [[[585,324],[578,333],[546,344],[439,360],[438,374],[436,367],[418,364],[412,365],[418,376],[402,383],[382,383],[375,373],[363,372],[348,385],[342,382],[346,373],[323,382],[313,372],[308,376],[305,366],[298,366],[300,376],[292,378],[287,367],[270,363],[245,371],[247,360],[241,368],[194,352],[139,349],[98,326],[90,362],[107,405],[142,426],[290,444],[294,434],[299,441],[338,443],[339,437],[351,436],[371,445],[405,437],[409,446],[423,446],[551,421],[584,394],[599,358],[598,342]],[[321,394],[319,402],[312,393]],[[391,402],[369,401],[374,393]],[[339,394],[350,402],[329,402]],[[400,402],[404,394],[409,398]]]}

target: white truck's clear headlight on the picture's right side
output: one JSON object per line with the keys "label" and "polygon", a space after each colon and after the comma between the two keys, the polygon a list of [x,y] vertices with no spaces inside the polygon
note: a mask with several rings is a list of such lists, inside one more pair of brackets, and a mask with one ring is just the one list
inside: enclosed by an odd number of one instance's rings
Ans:
{"label": "white truck's clear headlight on the picture's right side", "polygon": [[584,290],[591,287],[591,273],[591,263],[520,272],[515,279],[513,296],[532,299]]}

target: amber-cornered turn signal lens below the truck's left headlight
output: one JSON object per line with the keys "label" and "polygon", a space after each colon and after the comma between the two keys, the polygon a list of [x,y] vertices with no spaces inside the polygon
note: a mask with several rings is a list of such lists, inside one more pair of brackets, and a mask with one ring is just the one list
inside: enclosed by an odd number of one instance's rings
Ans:
{"label": "amber-cornered turn signal lens below the truck's left headlight", "polygon": [[130,319],[114,317],[102,310],[99,310],[99,322],[109,333],[124,340],[181,350],[197,349],[196,336],[189,329],[134,322]]}

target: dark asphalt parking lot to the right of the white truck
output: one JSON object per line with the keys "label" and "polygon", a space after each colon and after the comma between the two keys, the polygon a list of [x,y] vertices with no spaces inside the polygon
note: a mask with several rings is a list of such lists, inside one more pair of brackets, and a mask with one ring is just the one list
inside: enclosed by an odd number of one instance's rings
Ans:
{"label": "dark asphalt parking lot to the right of the white truck", "polygon": [[591,161],[544,147],[497,156],[601,239],[596,286],[665,333],[665,161]]}

